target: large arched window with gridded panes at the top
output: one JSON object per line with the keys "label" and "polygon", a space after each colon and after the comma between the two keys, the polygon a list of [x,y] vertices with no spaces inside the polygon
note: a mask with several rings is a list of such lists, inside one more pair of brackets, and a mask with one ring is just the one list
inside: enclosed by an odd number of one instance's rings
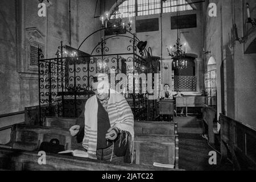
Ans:
{"label": "large arched window with gridded panes at the top", "polygon": [[[118,6],[119,11],[114,11],[110,19],[127,18],[131,16],[143,16],[161,13],[171,13],[179,11],[193,10],[186,0],[126,0]],[[137,11],[136,11],[137,10]]]}

